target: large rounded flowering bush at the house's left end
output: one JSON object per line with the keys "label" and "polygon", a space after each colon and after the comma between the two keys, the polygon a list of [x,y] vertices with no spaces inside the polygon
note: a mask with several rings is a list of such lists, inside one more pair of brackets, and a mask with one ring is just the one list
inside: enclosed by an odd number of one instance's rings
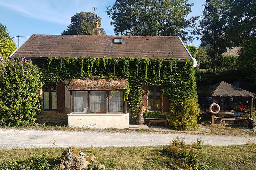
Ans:
{"label": "large rounded flowering bush at the house's left end", "polygon": [[40,72],[31,60],[8,59],[0,63],[0,125],[35,123],[42,107],[37,94]]}

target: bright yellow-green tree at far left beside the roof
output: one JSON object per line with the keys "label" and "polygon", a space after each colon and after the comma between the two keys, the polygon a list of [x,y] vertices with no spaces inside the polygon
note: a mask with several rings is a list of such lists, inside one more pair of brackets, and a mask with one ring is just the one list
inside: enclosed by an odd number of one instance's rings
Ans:
{"label": "bright yellow-green tree at far left beside the roof", "polygon": [[7,59],[15,50],[16,44],[8,37],[0,39],[0,54]]}

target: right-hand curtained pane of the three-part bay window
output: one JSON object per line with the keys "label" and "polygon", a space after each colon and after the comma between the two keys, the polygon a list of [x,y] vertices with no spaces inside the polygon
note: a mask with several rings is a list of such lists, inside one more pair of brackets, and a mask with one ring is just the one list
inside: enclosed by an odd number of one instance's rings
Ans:
{"label": "right-hand curtained pane of the three-part bay window", "polygon": [[108,109],[109,112],[124,112],[123,91],[109,91]]}

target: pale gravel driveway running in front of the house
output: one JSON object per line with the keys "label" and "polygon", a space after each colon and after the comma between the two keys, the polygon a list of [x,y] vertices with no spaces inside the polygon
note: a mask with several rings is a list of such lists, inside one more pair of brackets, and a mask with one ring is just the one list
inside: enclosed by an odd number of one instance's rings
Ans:
{"label": "pale gravel driveway running in front of the house", "polygon": [[186,144],[201,138],[204,144],[212,146],[243,145],[246,141],[255,141],[255,137],[249,136],[0,129],[0,149],[51,148],[54,142],[56,147],[91,147],[92,144],[95,147],[158,146],[170,143],[177,136],[184,137]]}

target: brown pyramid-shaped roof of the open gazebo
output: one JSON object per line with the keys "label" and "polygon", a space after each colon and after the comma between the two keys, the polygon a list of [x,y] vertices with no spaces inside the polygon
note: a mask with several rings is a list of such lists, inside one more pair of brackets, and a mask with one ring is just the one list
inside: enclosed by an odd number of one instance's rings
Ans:
{"label": "brown pyramid-shaped roof of the open gazebo", "polygon": [[200,97],[254,98],[256,94],[221,81],[197,92]]}

